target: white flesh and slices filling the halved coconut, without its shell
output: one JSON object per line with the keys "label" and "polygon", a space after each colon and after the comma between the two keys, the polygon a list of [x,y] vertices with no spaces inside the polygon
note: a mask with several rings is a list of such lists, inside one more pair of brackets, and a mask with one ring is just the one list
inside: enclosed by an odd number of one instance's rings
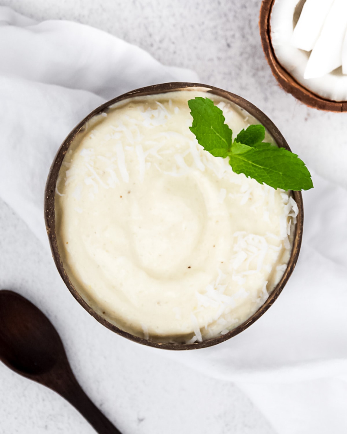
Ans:
{"label": "white flesh and slices filling the halved coconut, without its shell", "polygon": [[[271,42],[278,62],[280,62],[291,76],[293,76],[306,89],[311,90],[325,99],[332,101],[346,101],[347,76],[342,74],[342,70],[336,70],[336,68],[341,64],[344,64],[344,71],[347,70],[347,38],[345,38],[347,28],[347,1],[334,0],[328,10],[327,16],[331,17],[329,20],[326,18],[321,26],[320,34],[315,43],[315,46],[318,43],[319,45],[317,46],[316,53],[311,61],[311,66],[314,66],[313,69],[317,67],[315,65],[317,65],[317,62],[319,61],[318,66],[321,68],[320,71],[323,75],[318,77],[317,75],[319,74],[316,73],[313,78],[304,77],[306,68],[308,67],[310,52],[299,49],[297,46],[293,46],[293,38],[294,41],[297,41],[301,33],[303,42],[300,46],[302,46],[302,44],[308,44],[306,46],[310,46],[310,41],[312,43],[314,37],[317,36],[317,27],[319,27],[319,23],[317,23],[316,20],[321,16],[321,9],[325,8],[325,10],[327,10],[327,3],[331,3],[331,0],[307,0],[306,3],[308,4],[306,11],[304,12],[304,8],[302,9],[302,18],[300,16],[298,20],[298,25],[301,21],[300,27],[298,27],[298,30],[296,31],[297,33],[294,34],[294,28],[296,28],[294,18],[297,13],[297,7],[300,6],[298,3],[302,2],[299,2],[299,0],[275,0],[272,7],[270,17]],[[321,6],[321,3],[324,3],[325,6]],[[319,9],[319,11],[312,12],[314,8]],[[314,14],[316,17],[315,20],[313,20],[313,18],[311,20],[308,19],[310,11],[312,12],[311,16]],[[334,17],[336,17],[336,22],[334,22]],[[313,21],[314,24],[312,24]],[[327,28],[323,32],[326,23]],[[331,34],[328,32],[329,28],[333,29]],[[304,29],[306,29],[306,32]],[[314,32],[316,33],[313,35]],[[324,34],[326,36],[324,36]],[[324,39],[319,42],[322,35],[324,36]],[[337,40],[335,40],[335,37],[337,37]],[[315,50],[315,46],[312,53]],[[338,51],[340,53],[340,61],[339,64],[335,66],[337,64],[336,53]],[[319,54],[320,52],[321,55]],[[329,54],[328,58],[326,53]],[[325,67],[327,63],[329,64],[329,67]],[[309,73],[310,69],[308,70]]]}

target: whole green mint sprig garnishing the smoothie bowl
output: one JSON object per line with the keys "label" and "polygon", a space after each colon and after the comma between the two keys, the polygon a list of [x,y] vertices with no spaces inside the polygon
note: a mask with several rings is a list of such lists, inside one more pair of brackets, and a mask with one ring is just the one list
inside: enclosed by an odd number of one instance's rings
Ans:
{"label": "whole green mint sprig garnishing the smoothie bowl", "polygon": [[283,190],[309,190],[311,174],[298,155],[266,143],[265,128],[250,125],[232,141],[232,130],[225,124],[223,112],[209,98],[188,101],[193,125],[190,131],[198,143],[215,157],[229,157],[236,173],[244,173],[260,184]]}

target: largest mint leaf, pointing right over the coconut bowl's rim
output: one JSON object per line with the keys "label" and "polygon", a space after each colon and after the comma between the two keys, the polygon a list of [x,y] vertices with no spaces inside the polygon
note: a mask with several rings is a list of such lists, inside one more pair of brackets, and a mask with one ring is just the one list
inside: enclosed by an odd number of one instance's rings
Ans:
{"label": "largest mint leaf, pointing right over the coconut bowl's rim", "polygon": [[234,172],[244,173],[270,187],[283,190],[309,190],[313,187],[304,162],[285,148],[270,145],[257,149],[234,141],[229,163]]}

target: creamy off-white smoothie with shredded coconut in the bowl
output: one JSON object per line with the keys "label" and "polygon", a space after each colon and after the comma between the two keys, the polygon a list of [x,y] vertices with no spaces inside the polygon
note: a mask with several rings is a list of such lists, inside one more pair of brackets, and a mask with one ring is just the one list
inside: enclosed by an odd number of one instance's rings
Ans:
{"label": "creamy off-white smoothie with shredded coconut in the bowl", "polygon": [[223,335],[259,309],[286,269],[298,212],[288,192],[203,150],[189,130],[196,96],[218,104],[234,137],[259,123],[205,92],[128,99],[88,123],[56,185],[72,284],[109,322],[156,342]]}

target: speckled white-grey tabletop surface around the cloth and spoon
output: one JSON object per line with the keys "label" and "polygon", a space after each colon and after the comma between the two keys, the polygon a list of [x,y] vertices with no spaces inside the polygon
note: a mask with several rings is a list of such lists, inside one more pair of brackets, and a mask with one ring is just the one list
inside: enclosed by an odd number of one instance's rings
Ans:
{"label": "speckled white-grey tabletop surface around the cloth and spoon", "polygon": [[[308,109],[278,88],[262,53],[260,3],[0,0],[36,20],[98,27],[164,64],[196,70],[201,82],[257,105],[311,168],[347,187],[347,115]],[[82,387],[124,434],[275,434],[231,383],[154,357],[89,317],[39,241],[2,202],[0,258],[0,288],[18,290],[52,319]],[[0,434],[62,432],[94,431],[62,398],[0,365]]]}

